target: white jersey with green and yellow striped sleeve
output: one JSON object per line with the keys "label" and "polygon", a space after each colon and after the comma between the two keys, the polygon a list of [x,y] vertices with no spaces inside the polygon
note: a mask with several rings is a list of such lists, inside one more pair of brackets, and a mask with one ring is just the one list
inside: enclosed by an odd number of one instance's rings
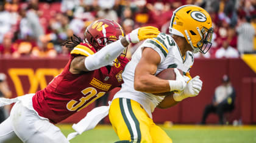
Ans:
{"label": "white jersey with green and yellow striped sleeve", "polygon": [[192,52],[187,52],[183,58],[174,39],[165,33],[160,33],[157,38],[147,39],[132,55],[132,60],[126,65],[122,74],[124,84],[122,84],[121,90],[116,93],[113,99],[127,98],[137,101],[152,118],[152,111],[154,111],[155,107],[165,98],[165,96],[155,96],[151,93],[144,93],[134,89],[133,83],[135,68],[141,59],[141,52],[144,47],[154,49],[161,57],[161,62],[157,66],[157,72],[155,75],[166,68],[176,67],[182,70],[183,74],[185,74],[193,65],[194,58]]}

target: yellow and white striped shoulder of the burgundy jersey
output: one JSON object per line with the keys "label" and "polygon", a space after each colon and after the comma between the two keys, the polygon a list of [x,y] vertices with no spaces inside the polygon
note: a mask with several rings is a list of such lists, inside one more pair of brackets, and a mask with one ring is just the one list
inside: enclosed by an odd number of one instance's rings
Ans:
{"label": "yellow and white striped shoulder of the burgundy jersey", "polygon": [[83,56],[90,56],[96,53],[96,50],[93,48],[92,45],[87,43],[80,43],[76,47],[73,48],[71,51],[71,55],[83,55]]}

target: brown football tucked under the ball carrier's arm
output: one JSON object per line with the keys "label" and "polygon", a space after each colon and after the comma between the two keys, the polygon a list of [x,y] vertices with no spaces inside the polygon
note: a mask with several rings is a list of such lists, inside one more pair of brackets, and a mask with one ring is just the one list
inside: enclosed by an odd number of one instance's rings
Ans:
{"label": "brown football tucked under the ball carrier's arm", "polygon": [[[179,70],[179,71],[180,71],[180,74],[183,75],[182,70]],[[161,78],[161,79],[175,80],[176,79],[176,74],[174,72],[174,68],[166,68],[165,70],[160,71],[160,73],[157,74],[157,77]],[[172,93],[173,92],[154,93],[154,95],[168,96],[168,95],[171,95]]]}

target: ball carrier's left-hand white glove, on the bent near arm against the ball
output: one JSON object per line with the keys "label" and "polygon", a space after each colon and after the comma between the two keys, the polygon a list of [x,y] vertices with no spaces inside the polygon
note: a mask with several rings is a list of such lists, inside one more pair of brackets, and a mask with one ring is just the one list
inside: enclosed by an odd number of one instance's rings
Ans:
{"label": "ball carrier's left-hand white glove, on the bent near arm against the ball", "polygon": [[176,80],[169,80],[170,91],[182,92],[186,87],[186,79],[180,74],[177,68],[174,68]]}

